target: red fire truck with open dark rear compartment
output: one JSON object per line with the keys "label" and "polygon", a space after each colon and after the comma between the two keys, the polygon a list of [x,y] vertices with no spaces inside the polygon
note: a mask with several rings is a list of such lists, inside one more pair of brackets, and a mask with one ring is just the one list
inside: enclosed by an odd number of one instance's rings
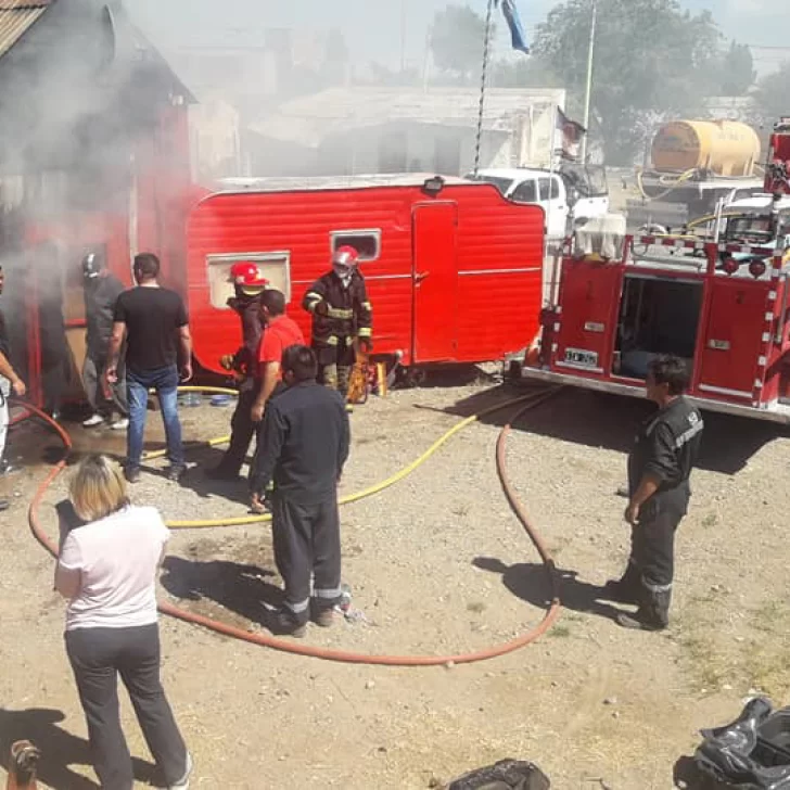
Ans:
{"label": "red fire truck with open dark rear compartment", "polygon": [[644,396],[650,359],[674,354],[699,406],[790,422],[789,169],[786,119],[772,138],[772,194],[712,237],[579,229],[556,262],[524,375]]}

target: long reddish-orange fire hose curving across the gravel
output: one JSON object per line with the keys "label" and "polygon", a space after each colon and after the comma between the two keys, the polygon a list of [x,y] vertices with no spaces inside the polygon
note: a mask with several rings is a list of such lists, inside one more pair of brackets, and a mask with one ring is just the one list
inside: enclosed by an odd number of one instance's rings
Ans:
{"label": "long reddish-orange fire hose curving across the gravel", "polygon": [[[366,653],[356,653],[356,652],[349,652],[345,650],[333,650],[328,648],[320,648],[315,647],[310,645],[304,645],[298,644],[292,640],[286,639],[280,639],[273,636],[269,636],[266,634],[251,634],[246,630],[243,630],[241,628],[234,628],[231,625],[226,625],[225,623],[221,623],[217,620],[212,620],[211,617],[204,617],[200,614],[193,614],[192,612],[188,612],[184,609],[181,609],[180,607],[177,607],[173,603],[160,603],[160,612],[163,614],[169,615],[171,617],[176,617],[178,620],[182,620],[187,623],[192,623],[194,625],[201,625],[204,628],[207,628],[209,630],[213,630],[217,634],[222,634],[224,636],[232,637],[235,639],[240,639],[242,641],[251,642],[253,645],[260,645],[263,647],[272,648],[275,650],[280,650],[282,652],[286,653],[295,653],[297,655],[308,655],[311,658],[317,659],[324,659],[328,661],[339,661],[339,662],[345,662],[345,663],[353,663],[353,664],[378,664],[378,665],[386,665],[386,666],[442,666],[442,665],[453,665],[453,664],[471,664],[474,662],[485,661],[488,659],[498,658],[500,655],[506,655],[507,653],[514,652],[515,650],[519,650],[526,645],[530,645],[531,642],[535,641],[539,637],[541,637],[553,625],[555,621],[557,620],[559,612],[560,612],[560,595],[559,595],[559,579],[555,570],[555,563],[551,559],[551,556],[549,555],[546,546],[544,545],[540,535],[538,534],[537,530],[535,528],[534,524],[532,523],[530,515],[519,501],[519,498],[510,484],[510,481],[508,479],[507,473],[507,459],[506,459],[506,449],[507,449],[507,438],[508,434],[510,433],[511,424],[517,422],[519,418],[522,417],[526,411],[530,409],[535,408],[539,404],[544,403],[544,400],[547,400],[549,397],[552,397],[555,395],[556,391],[549,391],[549,392],[541,392],[536,395],[534,399],[528,400],[524,406],[522,406],[519,411],[513,416],[510,423],[508,423],[499,434],[499,438],[497,441],[497,449],[496,449],[496,462],[497,462],[497,471],[499,474],[499,480],[501,481],[502,488],[505,490],[505,495],[508,499],[508,502],[510,504],[510,507],[512,508],[513,512],[515,513],[515,517],[519,519],[521,524],[523,525],[524,530],[526,531],[526,534],[528,535],[530,539],[534,544],[535,548],[537,549],[538,553],[540,555],[540,559],[543,560],[544,566],[546,569],[546,573],[548,575],[549,582],[551,584],[551,604],[549,606],[549,609],[546,611],[543,620],[540,623],[533,628],[532,630],[527,632],[526,634],[523,634],[522,636],[500,645],[496,645],[492,648],[487,648],[485,650],[480,650],[476,652],[471,653],[459,653],[457,655],[372,655],[372,654],[366,654]],[[58,475],[63,471],[63,469],[66,466],[67,462],[67,455],[68,451],[72,449],[72,439],[66,433],[66,431],[59,425],[54,420],[52,420],[49,415],[44,413],[40,409],[30,406],[29,404],[24,404],[25,408],[28,410],[28,417],[29,416],[37,416],[40,419],[42,419],[50,428],[52,428],[58,435],[60,436],[61,441],[63,442],[63,445],[66,450],[66,455],[58,464],[55,464],[52,470],[47,475],[46,480],[41,483],[41,485],[38,487],[33,501],[30,502],[29,511],[28,511],[28,520],[30,524],[30,528],[33,531],[34,536],[36,539],[41,544],[41,546],[44,547],[53,557],[58,556],[58,549],[54,546],[54,544],[49,539],[49,537],[46,535],[43,530],[41,528],[41,524],[39,521],[39,507],[41,505],[41,501],[47,494],[48,488],[52,485],[54,480],[58,477]],[[505,407],[502,407],[505,408]]]}

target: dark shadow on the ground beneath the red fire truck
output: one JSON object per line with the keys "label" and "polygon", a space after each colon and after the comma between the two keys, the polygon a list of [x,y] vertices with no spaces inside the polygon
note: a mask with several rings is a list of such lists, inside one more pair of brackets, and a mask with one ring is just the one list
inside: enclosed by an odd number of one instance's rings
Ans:
{"label": "dark shadow on the ground beneath the red fire truck", "polygon": [[[498,403],[505,404],[537,391],[531,385],[515,387],[507,384],[475,393],[444,411],[469,417]],[[647,400],[569,387],[525,412],[513,429],[588,447],[627,453],[638,424],[652,409]],[[505,425],[518,410],[518,406],[502,409],[482,418],[482,421]],[[706,411],[704,420],[699,467],[723,474],[736,474],[765,445],[785,435],[780,425],[744,417]]]}

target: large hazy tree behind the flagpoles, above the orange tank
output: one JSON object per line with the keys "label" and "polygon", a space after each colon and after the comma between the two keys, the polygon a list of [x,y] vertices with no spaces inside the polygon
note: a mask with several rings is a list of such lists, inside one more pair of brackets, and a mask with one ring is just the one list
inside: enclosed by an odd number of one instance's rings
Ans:
{"label": "large hazy tree behind the flagpoles, above the orange tank", "polygon": [[[576,116],[591,12],[591,0],[566,0],[538,26],[533,47],[569,89]],[[683,12],[676,0],[598,0],[597,29],[590,125],[607,162],[630,165],[651,117],[700,113],[722,37],[710,12]]]}

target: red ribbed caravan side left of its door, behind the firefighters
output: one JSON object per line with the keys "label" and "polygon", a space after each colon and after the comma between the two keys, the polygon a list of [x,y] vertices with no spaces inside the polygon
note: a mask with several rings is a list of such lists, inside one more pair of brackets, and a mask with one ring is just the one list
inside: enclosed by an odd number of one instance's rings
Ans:
{"label": "red ribbed caravan side left of its door, behind the firefighters", "polygon": [[[377,353],[400,351],[408,364],[412,332],[410,188],[220,193],[192,212],[189,308],[194,353],[216,372],[219,357],[241,344],[239,319],[227,306],[225,282],[234,260],[262,263],[272,284],[290,295],[289,314],[309,337],[302,298],[330,267],[333,240],[354,231],[378,239],[378,255],[361,264],[373,303]],[[371,242],[372,243],[372,242]]]}

